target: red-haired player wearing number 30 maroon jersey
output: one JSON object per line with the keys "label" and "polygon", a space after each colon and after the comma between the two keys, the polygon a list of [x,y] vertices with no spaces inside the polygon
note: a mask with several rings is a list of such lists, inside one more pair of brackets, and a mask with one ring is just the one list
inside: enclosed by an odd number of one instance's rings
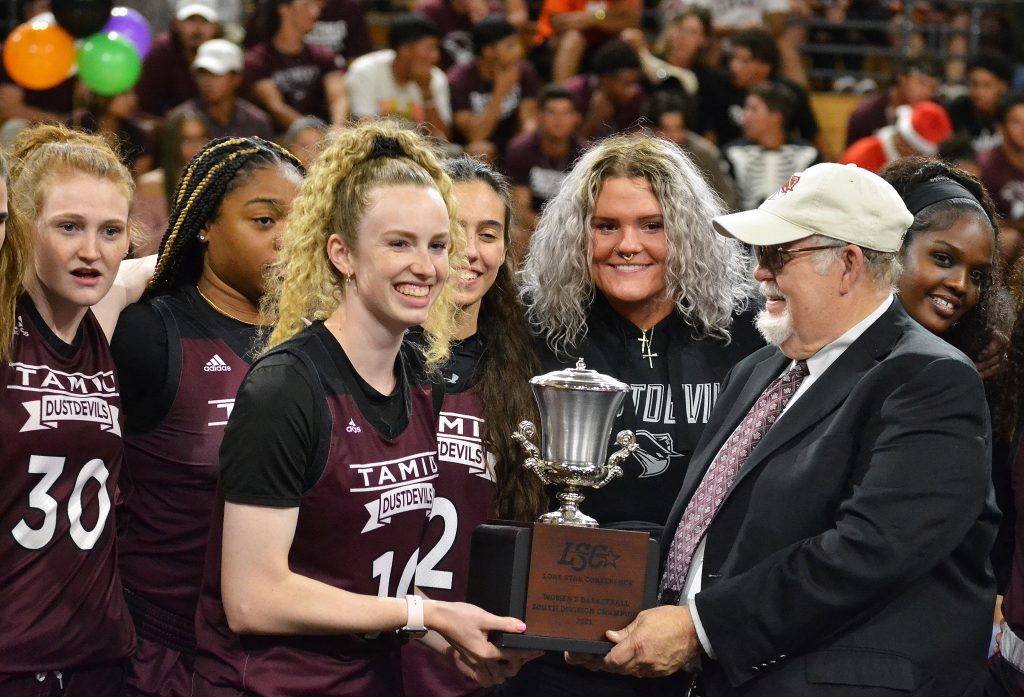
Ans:
{"label": "red-haired player wearing number 30 maroon jersey", "polygon": [[14,143],[9,192],[0,250],[0,694],[108,697],[120,694],[135,636],[113,520],[121,399],[90,307],[128,253],[133,182],[98,136],[36,126]]}

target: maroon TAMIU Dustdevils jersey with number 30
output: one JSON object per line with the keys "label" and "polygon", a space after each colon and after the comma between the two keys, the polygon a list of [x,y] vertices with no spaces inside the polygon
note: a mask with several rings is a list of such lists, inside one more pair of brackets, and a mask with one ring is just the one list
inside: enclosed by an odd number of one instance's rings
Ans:
{"label": "maroon TAMIU Dustdevils jersey with number 30", "polygon": [[23,297],[13,359],[0,363],[0,674],[131,654],[111,515],[121,424],[114,361],[92,312],[69,346]]}

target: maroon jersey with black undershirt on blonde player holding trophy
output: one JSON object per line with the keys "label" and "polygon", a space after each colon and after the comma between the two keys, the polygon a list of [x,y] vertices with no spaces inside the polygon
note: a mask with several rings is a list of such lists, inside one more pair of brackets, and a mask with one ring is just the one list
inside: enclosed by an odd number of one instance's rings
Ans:
{"label": "maroon jersey with black undershirt on blonde player holding trophy", "polygon": [[[359,594],[412,592],[437,479],[431,393],[410,376],[412,361],[403,350],[393,395],[374,393],[318,321],[261,357],[243,383],[220,453],[224,499],[299,509],[295,573]],[[215,514],[197,614],[203,682],[253,695],[401,694],[393,633],[231,633],[220,598],[222,519]]]}

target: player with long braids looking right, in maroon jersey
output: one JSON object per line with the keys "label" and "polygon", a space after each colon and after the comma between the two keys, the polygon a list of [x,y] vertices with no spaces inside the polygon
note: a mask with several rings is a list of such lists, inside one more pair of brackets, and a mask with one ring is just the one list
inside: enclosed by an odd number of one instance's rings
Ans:
{"label": "player with long braids looking right, in maroon jersey", "polygon": [[138,634],[130,695],[191,689],[217,450],[257,350],[263,274],[303,172],[262,138],[207,144],[182,172],[142,302],[118,322],[112,349],[127,416],[119,564]]}

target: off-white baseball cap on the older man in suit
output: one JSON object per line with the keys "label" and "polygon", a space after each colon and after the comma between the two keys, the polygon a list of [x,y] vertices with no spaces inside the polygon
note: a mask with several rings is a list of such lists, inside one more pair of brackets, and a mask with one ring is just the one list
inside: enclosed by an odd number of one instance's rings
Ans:
{"label": "off-white baseball cap on the older man in suit", "polygon": [[715,229],[767,247],[822,234],[897,252],[913,216],[885,179],[856,165],[824,163],[794,174],[753,211],[720,215]]}

